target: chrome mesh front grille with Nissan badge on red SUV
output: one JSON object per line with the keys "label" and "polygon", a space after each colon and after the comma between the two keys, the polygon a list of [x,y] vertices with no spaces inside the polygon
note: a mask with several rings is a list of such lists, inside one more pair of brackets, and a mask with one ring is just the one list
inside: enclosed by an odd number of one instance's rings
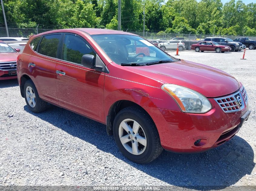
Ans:
{"label": "chrome mesh front grille with Nissan badge on red SUV", "polygon": [[247,94],[244,87],[241,88],[241,91],[238,91],[232,95],[214,98],[214,100],[218,103],[218,105],[225,113],[243,110],[244,106],[248,103]]}

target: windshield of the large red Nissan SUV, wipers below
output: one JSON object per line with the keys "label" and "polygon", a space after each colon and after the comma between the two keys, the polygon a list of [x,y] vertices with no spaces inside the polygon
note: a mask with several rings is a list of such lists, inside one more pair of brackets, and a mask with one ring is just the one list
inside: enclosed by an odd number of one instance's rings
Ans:
{"label": "windshield of the large red Nissan SUV, wipers below", "polygon": [[131,64],[161,61],[176,61],[167,53],[141,37],[126,34],[91,35],[108,57],[115,63]]}

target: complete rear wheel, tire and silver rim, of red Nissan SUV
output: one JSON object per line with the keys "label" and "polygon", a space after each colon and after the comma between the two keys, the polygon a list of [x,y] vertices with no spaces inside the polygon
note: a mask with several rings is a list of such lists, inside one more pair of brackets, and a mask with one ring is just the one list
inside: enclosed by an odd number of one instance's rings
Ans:
{"label": "complete rear wheel, tire and silver rim, of red Nissan SUV", "polygon": [[47,107],[47,102],[39,97],[35,84],[32,80],[28,80],[24,84],[24,97],[28,109],[35,113],[40,113]]}

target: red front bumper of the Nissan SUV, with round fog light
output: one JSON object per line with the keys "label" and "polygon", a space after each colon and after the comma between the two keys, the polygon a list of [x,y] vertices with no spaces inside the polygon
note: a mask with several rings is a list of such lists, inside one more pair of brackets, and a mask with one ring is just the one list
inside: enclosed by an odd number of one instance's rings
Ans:
{"label": "red front bumper of the Nissan SUV, with round fog light", "polygon": [[[215,148],[233,138],[249,117],[248,104],[243,110],[225,113],[213,98],[209,100],[212,109],[201,114],[145,108],[155,122],[165,150],[197,153]],[[198,139],[202,144],[195,145]]]}

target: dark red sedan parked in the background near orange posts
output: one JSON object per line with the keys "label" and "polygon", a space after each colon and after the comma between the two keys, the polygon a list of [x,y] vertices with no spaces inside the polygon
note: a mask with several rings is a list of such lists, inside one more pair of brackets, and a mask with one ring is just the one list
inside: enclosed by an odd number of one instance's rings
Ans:
{"label": "dark red sedan parked in the background near orange posts", "polygon": [[196,52],[204,52],[204,51],[215,51],[216,53],[224,53],[226,51],[230,51],[230,46],[220,45],[213,41],[202,41],[197,44],[192,44],[191,49],[195,50]]}

